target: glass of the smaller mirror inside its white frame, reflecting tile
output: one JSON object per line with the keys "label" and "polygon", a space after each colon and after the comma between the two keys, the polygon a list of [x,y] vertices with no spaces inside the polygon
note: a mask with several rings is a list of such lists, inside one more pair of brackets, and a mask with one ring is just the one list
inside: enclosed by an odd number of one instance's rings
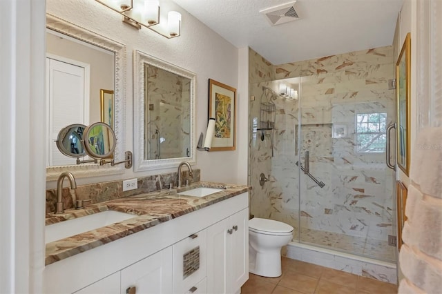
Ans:
{"label": "glass of the smaller mirror inside its white frame, reflecting tile", "polygon": [[189,157],[191,79],[144,63],[144,160]]}

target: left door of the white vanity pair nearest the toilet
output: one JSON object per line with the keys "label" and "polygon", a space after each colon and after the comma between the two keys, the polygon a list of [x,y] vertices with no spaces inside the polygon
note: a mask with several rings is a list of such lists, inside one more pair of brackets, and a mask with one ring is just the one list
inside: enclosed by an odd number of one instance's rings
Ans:
{"label": "left door of the white vanity pair nearest the toilet", "polygon": [[207,293],[230,293],[227,288],[230,266],[229,228],[229,218],[207,228]]}

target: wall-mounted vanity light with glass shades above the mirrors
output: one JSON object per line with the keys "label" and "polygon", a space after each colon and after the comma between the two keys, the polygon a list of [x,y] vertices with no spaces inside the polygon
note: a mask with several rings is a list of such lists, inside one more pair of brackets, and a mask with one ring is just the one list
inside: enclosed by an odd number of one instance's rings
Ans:
{"label": "wall-mounted vanity light with glass shades above the mirrors", "polygon": [[167,19],[160,15],[159,0],[95,0],[123,15],[123,22],[140,30],[142,26],[167,39],[180,37],[181,14],[169,11]]}

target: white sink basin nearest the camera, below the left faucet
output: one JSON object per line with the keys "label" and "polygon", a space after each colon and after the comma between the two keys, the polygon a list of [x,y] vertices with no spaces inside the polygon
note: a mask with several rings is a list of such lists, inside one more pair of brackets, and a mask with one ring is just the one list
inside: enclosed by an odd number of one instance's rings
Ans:
{"label": "white sink basin nearest the camera, below the left faucet", "polygon": [[101,228],[102,226],[123,222],[132,217],[137,217],[137,215],[106,210],[101,213],[94,213],[93,215],[69,219],[64,222],[58,222],[57,224],[50,224],[46,226],[45,230],[46,243],[95,230],[95,228]]}

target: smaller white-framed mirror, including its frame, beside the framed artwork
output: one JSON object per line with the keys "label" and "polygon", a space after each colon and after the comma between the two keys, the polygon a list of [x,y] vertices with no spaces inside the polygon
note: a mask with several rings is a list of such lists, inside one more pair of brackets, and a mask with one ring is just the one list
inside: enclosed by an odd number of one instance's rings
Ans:
{"label": "smaller white-framed mirror, including its frame, beside the framed artwork", "polygon": [[194,163],[196,75],[138,50],[133,68],[135,170]]}

